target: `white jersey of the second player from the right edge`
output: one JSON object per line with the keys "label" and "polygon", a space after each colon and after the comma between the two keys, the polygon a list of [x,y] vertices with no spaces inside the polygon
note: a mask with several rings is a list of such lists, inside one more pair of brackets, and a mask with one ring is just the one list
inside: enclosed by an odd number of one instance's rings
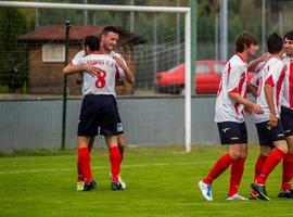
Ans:
{"label": "white jersey of the second player from the right edge", "polygon": [[282,88],[284,80],[284,64],[276,56],[270,58],[262,67],[262,69],[252,79],[252,85],[257,87],[256,103],[262,106],[263,114],[254,114],[255,123],[268,122],[270,119],[270,112],[265,94],[265,85],[271,85],[273,90],[273,105],[276,116],[280,117]]}

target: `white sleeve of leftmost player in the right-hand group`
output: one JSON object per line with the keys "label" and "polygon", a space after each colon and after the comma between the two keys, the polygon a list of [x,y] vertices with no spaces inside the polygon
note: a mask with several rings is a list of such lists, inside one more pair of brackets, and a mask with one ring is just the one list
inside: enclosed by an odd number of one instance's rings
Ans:
{"label": "white sleeve of leftmost player in the right-hand group", "polygon": [[239,84],[242,75],[242,68],[238,65],[228,64],[228,79],[227,79],[227,91],[239,92]]}

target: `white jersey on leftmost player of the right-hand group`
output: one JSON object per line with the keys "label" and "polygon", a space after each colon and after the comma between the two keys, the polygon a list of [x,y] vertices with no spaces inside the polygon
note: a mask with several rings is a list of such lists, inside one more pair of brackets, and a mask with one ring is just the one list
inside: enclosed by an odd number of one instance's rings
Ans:
{"label": "white jersey on leftmost player of the right-hand group", "polygon": [[238,92],[246,97],[247,89],[247,63],[240,54],[234,54],[226,64],[219,84],[215,106],[215,122],[244,122],[244,105],[230,99],[229,92]]}

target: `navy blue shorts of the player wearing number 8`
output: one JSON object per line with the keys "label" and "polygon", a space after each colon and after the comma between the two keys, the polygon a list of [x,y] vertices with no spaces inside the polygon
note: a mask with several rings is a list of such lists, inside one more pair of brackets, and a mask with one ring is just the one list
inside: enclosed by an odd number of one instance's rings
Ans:
{"label": "navy blue shorts of the player wearing number 8", "polygon": [[123,125],[114,95],[86,95],[78,122],[78,136],[116,136],[123,133]]}

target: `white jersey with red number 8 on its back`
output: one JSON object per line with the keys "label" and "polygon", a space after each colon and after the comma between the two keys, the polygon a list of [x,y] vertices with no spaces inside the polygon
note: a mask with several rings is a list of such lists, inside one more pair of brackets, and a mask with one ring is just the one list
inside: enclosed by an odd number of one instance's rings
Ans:
{"label": "white jersey with red number 8 on its back", "polygon": [[111,54],[92,52],[81,56],[78,62],[72,61],[73,65],[93,65],[97,67],[97,76],[84,73],[82,95],[87,94],[112,94],[115,92],[116,75],[124,74]]}

